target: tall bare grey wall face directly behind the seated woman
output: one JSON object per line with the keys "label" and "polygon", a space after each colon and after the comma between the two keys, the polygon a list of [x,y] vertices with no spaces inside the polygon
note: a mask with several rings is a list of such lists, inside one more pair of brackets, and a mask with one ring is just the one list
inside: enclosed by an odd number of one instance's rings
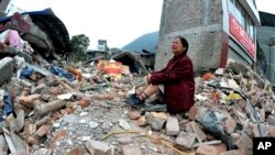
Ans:
{"label": "tall bare grey wall face directly behind the seated woman", "polygon": [[195,70],[219,67],[221,34],[221,0],[164,0],[155,68],[173,56],[170,43],[177,35],[188,40]]}

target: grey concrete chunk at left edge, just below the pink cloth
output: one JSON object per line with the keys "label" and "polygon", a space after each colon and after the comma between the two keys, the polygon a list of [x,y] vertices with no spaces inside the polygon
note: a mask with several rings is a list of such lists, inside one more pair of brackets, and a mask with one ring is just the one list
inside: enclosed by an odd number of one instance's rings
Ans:
{"label": "grey concrete chunk at left edge, just below the pink cloth", "polygon": [[8,79],[12,77],[13,59],[11,57],[4,57],[0,59],[0,86],[2,86]]}

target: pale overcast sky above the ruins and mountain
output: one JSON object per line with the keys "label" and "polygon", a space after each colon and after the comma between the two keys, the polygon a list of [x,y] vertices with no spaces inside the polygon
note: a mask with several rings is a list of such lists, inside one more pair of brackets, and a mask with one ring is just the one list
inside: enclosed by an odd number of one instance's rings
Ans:
{"label": "pale overcast sky above the ruins and mountain", "polygon": [[[25,11],[52,8],[69,35],[86,34],[90,48],[98,40],[123,47],[134,38],[158,31],[163,0],[12,0]],[[256,0],[258,10],[275,14],[275,0]]]}

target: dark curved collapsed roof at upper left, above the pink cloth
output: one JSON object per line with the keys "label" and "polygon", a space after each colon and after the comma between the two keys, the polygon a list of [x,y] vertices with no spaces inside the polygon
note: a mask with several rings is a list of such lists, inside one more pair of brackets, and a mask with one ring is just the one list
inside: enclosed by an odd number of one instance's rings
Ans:
{"label": "dark curved collapsed roof at upper left, above the pink cloth", "polygon": [[[28,21],[25,14],[31,18],[31,21]],[[0,33],[7,29],[16,30],[24,41],[40,52],[58,54],[72,52],[67,29],[52,9],[14,13],[11,16],[1,18],[0,24]]]}

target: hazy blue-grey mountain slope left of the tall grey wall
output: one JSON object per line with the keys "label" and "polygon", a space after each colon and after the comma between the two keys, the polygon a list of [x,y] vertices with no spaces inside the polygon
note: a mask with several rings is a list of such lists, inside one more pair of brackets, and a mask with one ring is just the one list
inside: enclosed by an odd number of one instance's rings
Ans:
{"label": "hazy blue-grey mountain slope left of the tall grey wall", "polygon": [[142,49],[146,49],[151,53],[155,53],[157,42],[158,42],[158,31],[144,34],[135,38],[134,41],[122,47],[122,49],[127,49],[130,52],[138,52],[138,53],[141,53]]}

